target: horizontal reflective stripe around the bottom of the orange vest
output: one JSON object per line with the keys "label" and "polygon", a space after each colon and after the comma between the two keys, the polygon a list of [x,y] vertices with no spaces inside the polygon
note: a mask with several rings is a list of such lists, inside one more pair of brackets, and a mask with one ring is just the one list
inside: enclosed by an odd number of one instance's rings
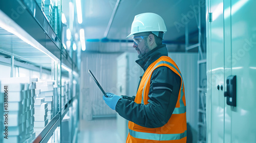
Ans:
{"label": "horizontal reflective stripe around the bottom of the orange vest", "polygon": [[187,136],[187,131],[181,134],[154,134],[145,132],[136,132],[129,129],[130,135],[135,138],[140,139],[150,139],[150,140],[177,140]]}

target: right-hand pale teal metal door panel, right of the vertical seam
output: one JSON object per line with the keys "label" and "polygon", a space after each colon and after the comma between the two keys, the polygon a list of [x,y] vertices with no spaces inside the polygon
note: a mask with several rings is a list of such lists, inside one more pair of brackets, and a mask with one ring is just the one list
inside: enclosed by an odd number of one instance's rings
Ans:
{"label": "right-hand pale teal metal door panel, right of the vertical seam", "polygon": [[237,76],[237,107],[228,106],[225,116],[225,126],[229,127],[225,138],[229,135],[229,142],[256,142],[255,6],[254,0],[232,0],[231,9],[224,10],[230,11],[232,47],[225,63],[231,63],[230,74]]}

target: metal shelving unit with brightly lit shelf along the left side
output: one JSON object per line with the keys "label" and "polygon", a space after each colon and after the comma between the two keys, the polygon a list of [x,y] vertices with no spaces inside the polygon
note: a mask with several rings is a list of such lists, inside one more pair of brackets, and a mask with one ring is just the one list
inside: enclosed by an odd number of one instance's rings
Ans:
{"label": "metal shelving unit with brightly lit shelf along the left side", "polygon": [[[36,1],[0,1],[2,17],[0,19],[0,63],[12,67],[24,67],[40,73],[42,71],[52,73],[53,78],[57,80],[58,88],[61,88],[61,65],[69,68],[71,75],[74,72],[78,73],[78,69],[61,44],[61,37],[59,37],[61,36],[61,0],[57,3],[58,7],[53,13],[56,18],[53,21],[59,23],[55,23],[56,27],[53,29],[52,23],[49,23]],[[54,68],[56,64],[59,70]],[[70,84],[73,84],[73,80],[77,80],[73,76],[70,78],[72,81]],[[79,98],[78,94],[72,95],[61,108],[60,96],[61,93],[58,92],[57,97],[54,97],[57,102],[55,116],[32,142],[48,142],[53,132],[58,127],[61,128],[61,121],[70,107],[73,107],[73,101]],[[61,139],[61,132],[59,136]]]}

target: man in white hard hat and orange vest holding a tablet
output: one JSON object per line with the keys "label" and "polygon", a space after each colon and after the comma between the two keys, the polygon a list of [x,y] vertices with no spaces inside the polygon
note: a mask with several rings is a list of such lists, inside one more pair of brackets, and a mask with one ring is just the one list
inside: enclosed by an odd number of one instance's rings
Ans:
{"label": "man in white hard hat and orange vest holding a tablet", "polygon": [[186,142],[186,103],[181,73],[162,44],[164,20],[155,13],[136,15],[132,23],[136,62],[144,74],[136,97],[103,96],[107,105],[129,120],[126,142]]}

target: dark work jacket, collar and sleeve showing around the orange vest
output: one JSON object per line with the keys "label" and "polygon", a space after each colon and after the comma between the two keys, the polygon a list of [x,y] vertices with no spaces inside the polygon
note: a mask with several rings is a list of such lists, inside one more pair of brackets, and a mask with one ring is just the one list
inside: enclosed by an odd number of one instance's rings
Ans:
{"label": "dark work jacket, collar and sleeve showing around the orange vest", "polygon": [[[147,67],[161,56],[168,56],[165,44],[151,50],[145,56],[136,60],[136,62],[146,71]],[[165,125],[170,116],[172,116],[178,100],[181,78],[170,68],[160,66],[153,71],[150,83],[150,92],[148,93],[150,100],[148,100],[148,104],[135,103],[135,96],[122,96],[117,102],[116,111],[126,120],[132,121],[137,125],[147,128],[158,128]],[[152,85],[154,83],[170,84],[173,86],[173,92],[170,93],[168,90],[153,91]]]}

